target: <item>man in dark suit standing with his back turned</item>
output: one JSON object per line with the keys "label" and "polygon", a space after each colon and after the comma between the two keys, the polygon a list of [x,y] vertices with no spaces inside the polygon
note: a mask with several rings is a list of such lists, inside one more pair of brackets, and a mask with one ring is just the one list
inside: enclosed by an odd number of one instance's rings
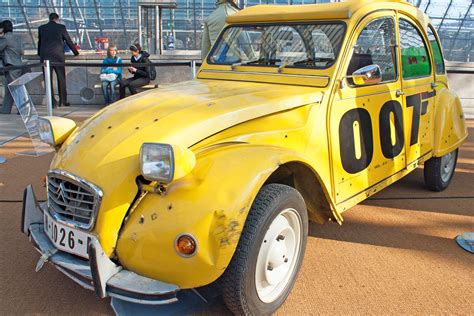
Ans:
{"label": "man in dark suit standing with his back turned", "polygon": [[[66,30],[66,26],[59,24],[59,15],[51,13],[49,15],[49,22],[38,28],[38,55],[41,62],[49,59],[52,62],[63,63],[66,60],[64,57],[64,42],[75,56],[79,55],[76,45],[74,45]],[[66,70],[64,66],[53,66],[52,68],[58,79],[59,106],[69,106],[67,102]],[[53,85],[51,84],[51,89],[52,87]],[[52,94],[54,104],[54,91],[52,91]]]}

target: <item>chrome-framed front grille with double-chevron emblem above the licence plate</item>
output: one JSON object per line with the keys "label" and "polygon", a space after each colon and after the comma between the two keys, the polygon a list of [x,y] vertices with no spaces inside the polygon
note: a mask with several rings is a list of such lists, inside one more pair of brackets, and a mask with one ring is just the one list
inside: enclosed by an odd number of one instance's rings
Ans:
{"label": "chrome-framed front grille with double-chevron emblem above the licence plate", "polygon": [[58,221],[90,230],[101,200],[102,191],[86,180],[62,170],[48,173],[48,208]]}

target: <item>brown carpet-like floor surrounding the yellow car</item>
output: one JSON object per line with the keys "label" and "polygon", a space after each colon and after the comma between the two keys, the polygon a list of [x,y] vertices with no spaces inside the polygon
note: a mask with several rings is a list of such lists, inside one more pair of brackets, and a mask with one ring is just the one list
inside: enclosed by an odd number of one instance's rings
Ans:
{"label": "brown carpet-like floor surrounding the yellow car", "polygon": [[[302,271],[278,314],[474,314],[474,256],[453,240],[474,231],[474,121],[469,126],[445,192],[425,190],[418,169],[346,212],[342,227],[311,225]],[[0,164],[0,314],[112,314],[108,300],[52,266],[34,272],[39,255],[20,233],[20,200],[29,183],[45,198],[52,156],[15,155],[29,147],[25,137],[0,146],[8,159]],[[228,313],[220,300],[202,312]]]}

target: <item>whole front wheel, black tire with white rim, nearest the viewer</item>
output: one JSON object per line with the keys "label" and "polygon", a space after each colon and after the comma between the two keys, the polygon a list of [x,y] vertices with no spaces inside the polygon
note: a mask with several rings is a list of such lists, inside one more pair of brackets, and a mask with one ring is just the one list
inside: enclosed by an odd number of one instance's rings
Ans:
{"label": "whole front wheel, black tire with white rim, nearest the viewer", "polygon": [[268,315],[288,297],[303,261],[308,215],[301,194],[269,184],[258,193],[223,275],[222,294],[236,315]]}

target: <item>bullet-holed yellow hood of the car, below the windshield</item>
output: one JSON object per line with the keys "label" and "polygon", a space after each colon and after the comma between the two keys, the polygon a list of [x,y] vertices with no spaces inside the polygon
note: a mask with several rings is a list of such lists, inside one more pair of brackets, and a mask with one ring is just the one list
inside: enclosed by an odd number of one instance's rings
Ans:
{"label": "bullet-holed yellow hood of the car, below the windshield", "polygon": [[[190,147],[231,126],[320,102],[321,90],[261,83],[193,80],[129,97],[77,129],[57,158],[71,165],[138,155],[145,142]],[[123,150],[125,148],[126,150]]]}

